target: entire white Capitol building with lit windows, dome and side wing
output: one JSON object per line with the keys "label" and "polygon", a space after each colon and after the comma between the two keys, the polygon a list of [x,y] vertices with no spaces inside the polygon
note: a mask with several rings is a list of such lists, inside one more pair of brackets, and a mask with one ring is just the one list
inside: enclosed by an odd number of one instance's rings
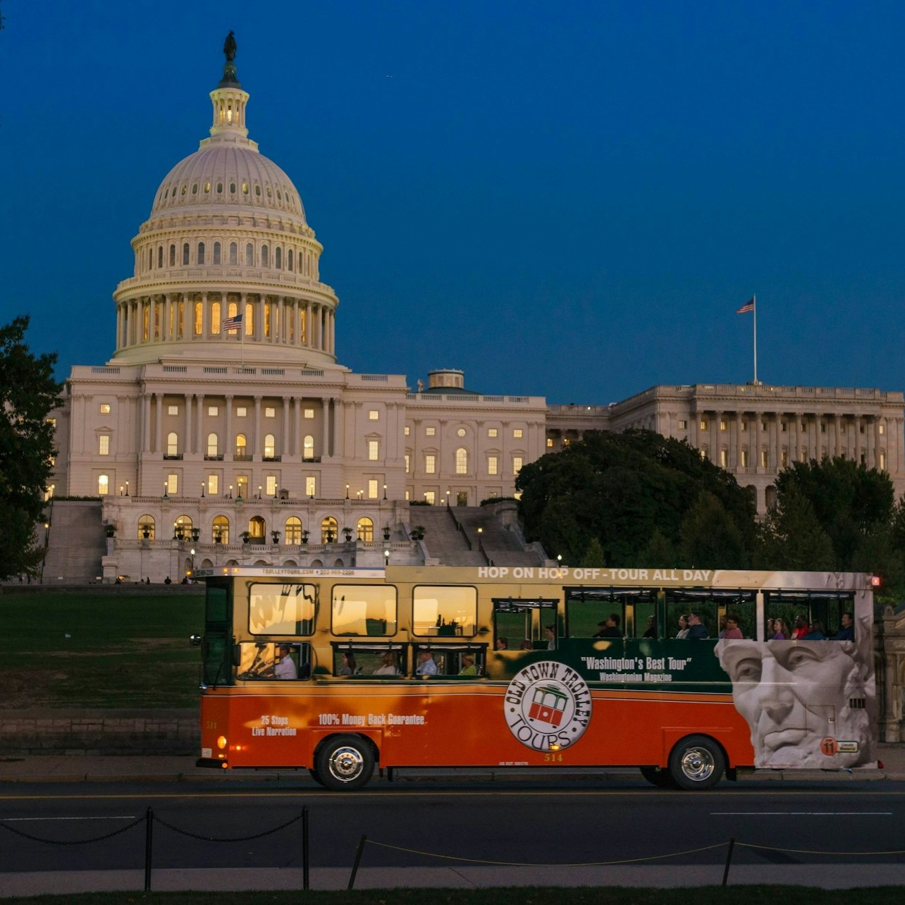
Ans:
{"label": "entire white Capitol building with lit windows, dome and side wing", "polygon": [[[227,563],[430,562],[431,538],[413,532],[424,510],[409,501],[456,512],[510,497],[523,465],[587,430],[686,439],[762,512],[783,466],[826,454],[905,491],[900,392],[654,386],[611,405],[548,405],[473,392],[455,369],[413,389],[343,367],[323,246],[290,177],[248,138],[249,94],[226,51],[210,137],[167,173],[132,240],[134,273],[113,293],[116,350],[73,367],[52,413],[48,497],[100,497],[83,529],[72,517],[71,537],[100,532],[104,581]],[[54,518],[67,505],[79,504],[57,504]]]}

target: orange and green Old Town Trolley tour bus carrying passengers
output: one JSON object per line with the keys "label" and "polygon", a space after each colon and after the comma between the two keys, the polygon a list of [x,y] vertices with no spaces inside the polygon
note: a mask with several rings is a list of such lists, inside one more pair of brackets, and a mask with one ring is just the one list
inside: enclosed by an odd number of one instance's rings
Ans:
{"label": "orange and green Old Town Trolley tour bus carrying passengers", "polygon": [[[871,576],[194,576],[206,584],[199,766],[307,767],[329,789],[364,786],[376,767],[634,766],[656,786],[705,789],[743,767],[876,766]],[[691,636],[677,637],[686,620]],[[789,637],[796,622],[810,638]]]}

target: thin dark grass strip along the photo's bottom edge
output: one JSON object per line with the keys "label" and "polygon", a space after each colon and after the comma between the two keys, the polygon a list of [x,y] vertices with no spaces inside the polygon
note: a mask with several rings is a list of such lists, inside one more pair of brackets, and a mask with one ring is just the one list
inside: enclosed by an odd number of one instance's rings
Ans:
{"label": "thin dark grass strip along the photo's bottom edge", "polygon": [[829,898],[899,905],[900,886],[852,890],[822,890],[805,886],[720,886],[677,889],[626,887],[508,887],[481,890],[355,890],[279,892],[97,892],[64,896],[30,896],[4,899],[5,905],[273,905],[304,901],[306,905],[825,905]]}

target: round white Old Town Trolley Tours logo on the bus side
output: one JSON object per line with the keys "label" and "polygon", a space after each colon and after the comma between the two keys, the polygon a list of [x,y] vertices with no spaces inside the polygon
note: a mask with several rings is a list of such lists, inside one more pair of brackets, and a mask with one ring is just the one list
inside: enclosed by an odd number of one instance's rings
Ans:
{"label": "round white Old Town Trolley Tours logo on the bus side", "polygon": [[520,670],[506,690],[510,732],[526,748],[557,751],[574,745],[591,721],[591,691],[563,663],[541,660]]}

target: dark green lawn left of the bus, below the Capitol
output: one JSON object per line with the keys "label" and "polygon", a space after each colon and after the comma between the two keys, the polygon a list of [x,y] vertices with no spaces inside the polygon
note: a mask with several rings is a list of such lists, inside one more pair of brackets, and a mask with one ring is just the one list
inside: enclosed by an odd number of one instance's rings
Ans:
{"label": "dark green lawn left of the bus, below the Capitol", "polygon": [[28,708],[195,708],[204,596],[0,595],[0,700]]}

